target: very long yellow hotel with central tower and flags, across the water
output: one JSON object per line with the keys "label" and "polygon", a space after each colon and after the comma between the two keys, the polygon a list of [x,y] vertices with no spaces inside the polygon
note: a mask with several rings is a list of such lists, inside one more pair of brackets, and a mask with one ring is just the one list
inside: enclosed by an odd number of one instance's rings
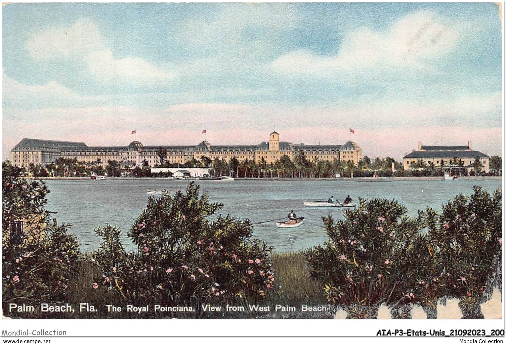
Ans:
{"label": "very long yellow hotel with central tower and flags, across the water", "polygon": [[14,165],[23,167],[28,164],[46,165],[56,161],[56,159],[76,158],[81,162],[94,162],[100,159],[104,165],[107,161],[113,160],[120,163],[135,164],[142,166],[146,160],[149,166],[153,167],[159,163],[159,157],[156,151],[159,148],[167,150],[166,160],[171,163],[184,164],[191,159],[200,160],[202,156],[211,160],[215,158],[225,159],[227,162],[232,157],[239,161],[256,160],[264,161],[267,164],[274,163],[282,156],[288,156],[294,159],[299,152],[304,152],[309,161],[333,161],[339,159],[343,162],[353,161],[358,164],[362,158],[362,150],[352,141],[343,145],[305,145],[293,144],[290,142],[279,141],[279,134],[273,131],[270,134],[269,141],[264,141],[256,145],[210,145],[207,141],[202,141],[197,145],[178,145],[178,146],[144,146],[139,141],[133,141],[125,147],[89,147],[84,142],[68,142],[39,140],[23,138],[11,151],[11,161]]}

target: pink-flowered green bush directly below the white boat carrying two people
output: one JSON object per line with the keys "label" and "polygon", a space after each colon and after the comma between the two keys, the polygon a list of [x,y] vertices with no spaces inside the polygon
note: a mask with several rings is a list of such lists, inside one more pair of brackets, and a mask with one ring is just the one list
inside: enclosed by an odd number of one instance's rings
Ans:
{"label": "pink-flowered green bush directly below the white boat carrying two people", "polygon": [[406,212],[396,201],[360,199],[344,220],[324,218],[329,240],[305,254],[329,302],[352,317],[371,317],[381,304],[419,300],[432,268],[421,232],[426,218],[420,212],[409,219]]}

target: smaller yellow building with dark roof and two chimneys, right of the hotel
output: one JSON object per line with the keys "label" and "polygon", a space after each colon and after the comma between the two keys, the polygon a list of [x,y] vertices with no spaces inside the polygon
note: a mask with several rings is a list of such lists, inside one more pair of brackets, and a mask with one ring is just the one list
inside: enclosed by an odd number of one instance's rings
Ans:
{"label": "smaller yellow building with dark roof and two chimneys, right of the hotel", "polygon": [[483,166],[483,171],[489,172],[489,161],[490,157],[479,151],[473,151],[471,149],[471,141],[468,141],[468,145],[422,145],[421,141],[418,141],[418,150],[407,154],[403,158],[404,169],[410,169],[412,164],[415,164],[419,160],[426,164],[431,162],[436,166],[451,166],[454,164],[455,159],[457,162],[463,164],[463,167],[471,170],[475,159],[478,158]]}

